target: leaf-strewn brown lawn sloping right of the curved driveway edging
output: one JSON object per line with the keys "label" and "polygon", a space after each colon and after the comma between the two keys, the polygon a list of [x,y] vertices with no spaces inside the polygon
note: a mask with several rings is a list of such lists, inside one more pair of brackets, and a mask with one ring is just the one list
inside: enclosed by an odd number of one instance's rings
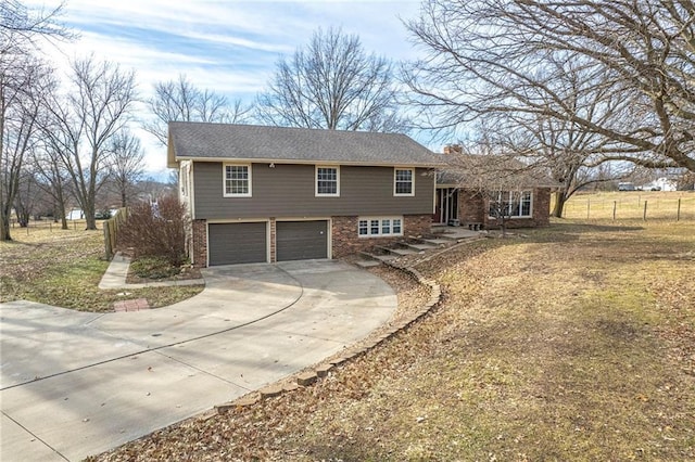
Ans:
{"label": "leaf-strewn brown lawn sloping right of the curved driveway edging", "polygon": [[316,385],[94,460],[695,460],[693,223],[525,233],[421,261],[439,308]]}

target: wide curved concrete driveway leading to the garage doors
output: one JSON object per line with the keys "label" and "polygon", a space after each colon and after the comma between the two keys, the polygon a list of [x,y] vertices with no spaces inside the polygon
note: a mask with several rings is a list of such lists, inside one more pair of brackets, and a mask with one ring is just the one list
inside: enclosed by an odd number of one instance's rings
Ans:
{"label": "wide curved concrete driveway leading to the garage doors", "polygon": [[397,303],[382,280],[337,261],[203,275],[200,295],[152,310],[0,305],[0,460],[114,448],[321,361]]}

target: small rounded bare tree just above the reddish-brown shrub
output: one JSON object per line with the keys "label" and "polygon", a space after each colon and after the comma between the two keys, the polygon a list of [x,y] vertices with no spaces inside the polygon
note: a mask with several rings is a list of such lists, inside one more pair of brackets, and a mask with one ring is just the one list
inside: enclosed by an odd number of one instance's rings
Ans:
{"label": "small rounded bare tree just above the reddish-brown shrub", "polygon": [[116,133],[109,143],[111,153],[111,179],[114,182],[121,206],[125,207],[136,194],[136,184],[144,174],[144,152],[140,140],[127,130]]}

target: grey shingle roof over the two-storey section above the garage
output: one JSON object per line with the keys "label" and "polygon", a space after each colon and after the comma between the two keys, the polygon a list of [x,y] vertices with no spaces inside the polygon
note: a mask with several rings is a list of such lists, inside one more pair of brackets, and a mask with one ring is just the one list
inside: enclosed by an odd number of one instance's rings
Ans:
{"label": "grey shingle roof over the two-storey section above the garage", "polygon": [[443,165],[440,154],[400,133],[172,121],[168,141],[169,167],[181,159]]}

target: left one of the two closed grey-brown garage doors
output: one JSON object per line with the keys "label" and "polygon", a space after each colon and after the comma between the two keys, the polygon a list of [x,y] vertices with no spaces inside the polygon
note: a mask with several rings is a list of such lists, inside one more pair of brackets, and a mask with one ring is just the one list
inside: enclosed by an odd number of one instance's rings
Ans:
{"label": "left one of the two closed grey-brown garage doors", "polygon": [[210,223],[210,266],[268,261],[266,222]]}

